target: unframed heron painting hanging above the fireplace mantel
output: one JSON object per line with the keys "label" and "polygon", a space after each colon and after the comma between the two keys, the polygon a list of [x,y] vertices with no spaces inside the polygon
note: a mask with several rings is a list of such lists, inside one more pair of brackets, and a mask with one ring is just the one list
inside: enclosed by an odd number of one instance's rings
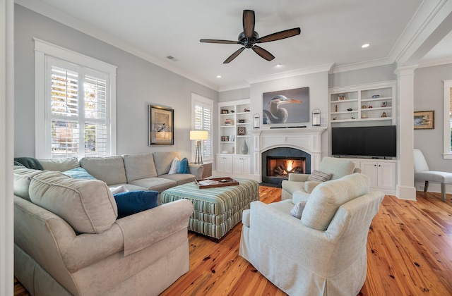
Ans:
{"label": "unframed heron painting hanging above the fireplace mantel", "polygon": [[262,94],[263,124],[309,122],[309,87]]}

